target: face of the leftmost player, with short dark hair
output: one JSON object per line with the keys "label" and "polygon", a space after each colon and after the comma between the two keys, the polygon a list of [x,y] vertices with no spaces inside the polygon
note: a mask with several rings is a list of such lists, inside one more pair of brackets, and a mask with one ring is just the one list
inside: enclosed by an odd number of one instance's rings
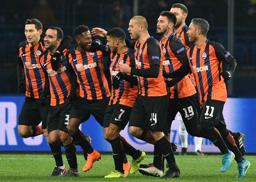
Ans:
{"label": "face of the leftmost player, with short dark hair", "polygon": [[36,45],[40,39],[40,30],[37,31],[34,24],[25,25],[27,42]]}

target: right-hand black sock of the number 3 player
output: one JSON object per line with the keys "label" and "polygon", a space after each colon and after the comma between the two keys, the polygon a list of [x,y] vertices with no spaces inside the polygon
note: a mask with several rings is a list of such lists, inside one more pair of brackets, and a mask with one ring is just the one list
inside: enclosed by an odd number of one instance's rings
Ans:
{"label": "right-hand black sock of the number 3 player", "polygon": [[68,145],[64,145],[66,151],[66,158],[70,168],[77,169],[77,156],[74,142],[71,142]]}

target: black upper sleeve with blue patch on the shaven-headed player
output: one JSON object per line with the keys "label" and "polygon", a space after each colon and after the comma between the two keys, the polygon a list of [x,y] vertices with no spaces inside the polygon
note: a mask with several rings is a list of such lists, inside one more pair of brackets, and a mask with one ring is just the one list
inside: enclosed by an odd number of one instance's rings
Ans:
{"label": "black upper sleeve with blue patch on the shaven-headed player", "polygon": [[160,50],[159,42],[155,40],[154,42],[149,41],[147,44],[148,44],[147,54],[148,54],[149,65],[150,66],[154,64],[160,65],[161,50]]}

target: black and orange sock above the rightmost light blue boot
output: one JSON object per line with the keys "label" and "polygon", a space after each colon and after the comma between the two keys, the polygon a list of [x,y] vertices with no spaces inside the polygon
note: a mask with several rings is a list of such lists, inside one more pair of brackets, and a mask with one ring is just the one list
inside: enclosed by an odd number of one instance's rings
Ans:
{"label": "black and orange sock above the rightmost light blue boot", "polygon": [[237,145],[234,142],[232,135],[230,133],[221,133],[221,136],[223,138],[223,141],[227,145],[227,148],[235,154],[236,162],[237,163],[242,162],[244,160],[244,157],[239,151],[239,149],[237,148]]}

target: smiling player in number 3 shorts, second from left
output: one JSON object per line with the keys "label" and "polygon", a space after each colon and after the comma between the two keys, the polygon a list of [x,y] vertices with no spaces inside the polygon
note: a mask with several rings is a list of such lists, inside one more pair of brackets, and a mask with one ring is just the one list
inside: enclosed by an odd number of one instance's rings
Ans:
{"label": "smiling player in number 3 shorts, second from left", "polygon": [[[51,57],[59,47],[62,39],[63,31],[61,28],[50,27],[45,32],[44,37],[46,51],[40,55],[39,59],[45,74],[48,74],[49,77],[46,83],[49,84],[50,81],[51,104],[47,117],[49,141],[55,145],[59,145],[62,142],[66,151],[66,158],[70,169],[65,173],[62,172],[60,176],[76,177],[80,176],[77,168],[76,148],[74,142],[71,140],[71,136],[68,134],[67,125],[69,112],[72,107],[72,103],[68,97],[71,91],[73,93],[75,92],[78,84],[74,70],[65,59],[65,53],[68,49],[65,49],[61,57],[58,57],[59,69],[57,71],[53,70],[51,63]],[[45,86],[44,92],[47,92],[46,88],[47,85]]]}

